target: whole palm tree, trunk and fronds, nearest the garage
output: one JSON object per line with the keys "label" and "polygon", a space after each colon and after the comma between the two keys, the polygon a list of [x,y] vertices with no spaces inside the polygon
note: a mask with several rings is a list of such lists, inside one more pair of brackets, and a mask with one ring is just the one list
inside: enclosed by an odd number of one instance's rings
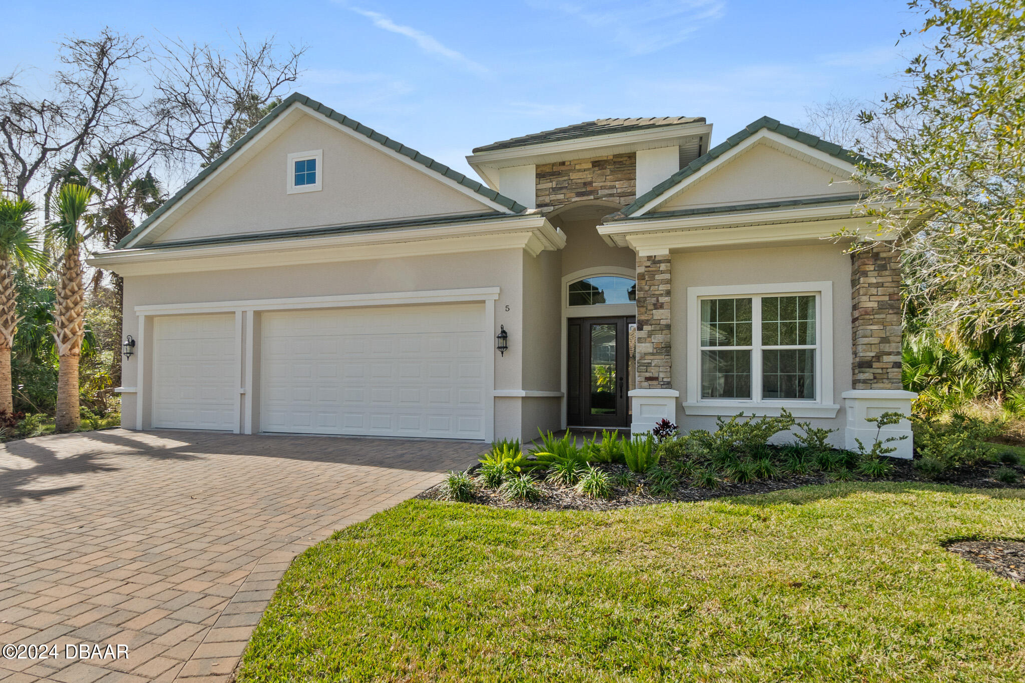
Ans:
{"label": "whole palm tree, trunk and fronds, nearest the garage", "polygon": [[85,335],[85,288],[82,286],[82,259],[79,253],[84,239],[82,217],[92,198],[92,189],[66,184],[57,195],[57,220],[47,225],[50,240],[64,250],[60,279],[53,311],[53,339],[57,344],[56,430],[74,431],[81,423],[78,396],[78,361]]}

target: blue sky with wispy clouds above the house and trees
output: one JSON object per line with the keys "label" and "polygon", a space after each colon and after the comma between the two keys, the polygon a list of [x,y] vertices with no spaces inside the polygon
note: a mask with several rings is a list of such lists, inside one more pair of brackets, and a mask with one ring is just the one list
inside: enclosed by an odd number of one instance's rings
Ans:
{"label": "blue sky with wispy clouds above the house and trees", "polygon": [[831,96],[877,99],[919,24],[904,2],[8,3],[0,71],[54,68],[105,25],[227,44],[308,43],[301,92],[471,173],[480,144],[605,117],[704,116],[713,143],[763,115],[799,125]]}

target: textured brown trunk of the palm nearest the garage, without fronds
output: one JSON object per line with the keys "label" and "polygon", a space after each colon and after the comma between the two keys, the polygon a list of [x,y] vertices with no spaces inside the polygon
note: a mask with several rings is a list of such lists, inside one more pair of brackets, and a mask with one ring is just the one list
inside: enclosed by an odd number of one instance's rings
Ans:
{"label": "textured brown trunk of the palm nearest the garage, without fronds", "polygon": [[78,360],[85,331],[85,289],[78,245],[65,250],[53,312],[53,338],[60,369],[57,375],[58,432],[74,431],[81,424],[78,397]]}

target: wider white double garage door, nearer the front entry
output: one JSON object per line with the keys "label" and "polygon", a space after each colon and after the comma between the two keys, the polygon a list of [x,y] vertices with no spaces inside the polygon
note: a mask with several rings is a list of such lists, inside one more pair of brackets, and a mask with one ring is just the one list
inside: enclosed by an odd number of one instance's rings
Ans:
{"label": "wider white double garage door, nearer the front entry", "polygon": [[484,305],[264,313],[260,430],[484,438]]}

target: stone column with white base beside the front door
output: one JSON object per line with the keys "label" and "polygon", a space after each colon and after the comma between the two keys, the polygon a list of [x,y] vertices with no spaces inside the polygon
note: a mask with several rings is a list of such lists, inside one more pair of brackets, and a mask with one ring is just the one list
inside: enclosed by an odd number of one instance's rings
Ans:
{"label": "stone column with white base beside the front door", "polygon": [[671,287],[668,254],[638,256],[638,388],[630,391],[633,434],[651,431],[663,418],[676,421],[680,392],[672,388]]}

